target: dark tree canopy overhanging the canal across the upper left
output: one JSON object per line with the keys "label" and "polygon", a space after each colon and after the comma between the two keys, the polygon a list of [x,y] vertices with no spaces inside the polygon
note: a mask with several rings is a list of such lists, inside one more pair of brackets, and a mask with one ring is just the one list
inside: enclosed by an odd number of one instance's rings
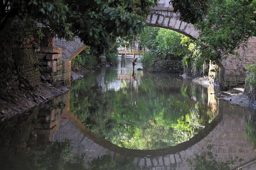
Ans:
{"label": "dark tree canopy overhanging the canal across the upper left", "polygon": [[61,38],[76,35],[89,46],[102,50],[110,34],[139,33],[157,0],[3,0],[0,1],[0,33],[19,17],[42,22]]}

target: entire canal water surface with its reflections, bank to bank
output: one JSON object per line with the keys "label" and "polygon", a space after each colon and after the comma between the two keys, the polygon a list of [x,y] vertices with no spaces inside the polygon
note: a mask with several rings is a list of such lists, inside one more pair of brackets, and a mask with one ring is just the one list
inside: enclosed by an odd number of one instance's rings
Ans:
{"label": "entire canal water surface with its reflections, bank to bank", "polygon": [[209,144],[222,160],[256,159],[254,111],[217,99],[212,86],[137,68],[103,67],[1,122],[0,169],[82,169],[106,154],[146,169],[189,169],[186,159]]}

